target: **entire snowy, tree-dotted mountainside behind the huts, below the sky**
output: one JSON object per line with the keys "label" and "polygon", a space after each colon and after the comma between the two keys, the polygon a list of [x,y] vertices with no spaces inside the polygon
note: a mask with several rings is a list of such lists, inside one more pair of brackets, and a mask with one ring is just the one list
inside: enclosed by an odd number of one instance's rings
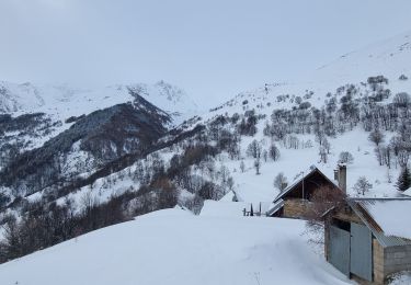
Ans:
{"label": "entire snowy, tree-dotted mountainside behind the huts, below the sky", "polygon": [[[3,83],[2,112],[10,114],[0,117],[1,218],[24,217],[24,231],[37,218],[33,208],[41,217],[70,213],[64,233],[35,250],[175,204],[198,214],[205,201],[219,201],[217,216],[232,208],[240,216],[251,203],[264,212],[279,193],[277,174],[292,183],[317,164],[332,179],[341,153],[349,195],[363,195],[355,185],[365,176],[373,187],[364,195],[399,196],[396,182],[411,153],[410,37],[347,54],[304,82],[242,92],[175,127],[174,112],[195,105],[165,83],[98,92]],[[42,144],[30,142],[35,134]],[[233,201],[241,203],[226,206]],[[35,225],[46,235],[42,220]]]}

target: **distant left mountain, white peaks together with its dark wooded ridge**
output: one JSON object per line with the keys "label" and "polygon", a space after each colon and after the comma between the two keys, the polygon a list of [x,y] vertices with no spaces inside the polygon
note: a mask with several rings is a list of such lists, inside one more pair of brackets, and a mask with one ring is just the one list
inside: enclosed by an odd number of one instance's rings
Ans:
{"label": "distant left mountain, white peaks together with its dark wooded ridge", "polygon": [[0,82],[0,170],[21,168],[21,159],[36,164],[31,179],[5,174],[24,181],[13,186],[19,189],[43,181],[45,170],[39,166],[54,166],[52,160],[61,161],[58,175],[91,173],[138,152],[197,112],[182,89],[164,81],[94,90]]}

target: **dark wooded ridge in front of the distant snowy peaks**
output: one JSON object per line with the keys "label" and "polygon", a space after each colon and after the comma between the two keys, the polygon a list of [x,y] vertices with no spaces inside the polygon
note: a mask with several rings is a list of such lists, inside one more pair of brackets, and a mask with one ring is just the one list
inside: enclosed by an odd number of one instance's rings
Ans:
{"label": "dark wooded ridge in front of the distant snowy peaks", "polygon": [[[9,122],[10,127],[10,121],[9,116],[0,117],[0,126],[1,122]],[[19,153],[0,172],[0,183],[15,190],[18,195],[64,185],[79,174],[76,169],[69,175],[62,173],[76,142],[80,150],[93,158],[88,170],[92,171],[150,146],[167,133],[165,125],[170,122],[167,113],[135,94],[133,103],[95,111],[77,119],[69,129],[42,147]]]}

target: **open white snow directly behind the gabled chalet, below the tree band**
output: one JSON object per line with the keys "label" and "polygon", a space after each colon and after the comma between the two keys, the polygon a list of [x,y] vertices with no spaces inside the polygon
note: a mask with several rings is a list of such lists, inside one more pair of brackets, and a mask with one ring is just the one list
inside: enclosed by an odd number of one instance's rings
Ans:
{"label": "open white snow directly behind the gabled chalet, below the tree band", "polygon": [[[262,122],[263,123],[263,122]],[[263,129],[263,124],[259,125],[259,132]],[[366,176],[373,184],[373,189],[365,193],[367,197],[397,197],[399,192],[395,186],[395,179],[398,176],[400,168],[395,167],[389,171],[391,181],[388,180],[388,171],[386,167],[378,166],[378,161],[374,155],[375,146],[367,138],[367,133],[356,128],[352,132],[339,135],[336,138],[330,138],[331,151],[327,163],[319,163],[318,147],[312,135],[298,136],[304,140],[311,140],[315,146],[311,148],[286,149],[279,144],[277,145],[281,157],[278,161],[262,162],[261,174],[256,175],[253,168],[253,159],[244,158],[246,171],[242,173],[239,169],[240,161],[224,161],[229,168],[230,173],[236,182],[235,190],[240,201],[254,203],[272,202],[278,195],[278,190],[273,185],[275,175],[283,172],[288,184],[295,179],[299,179],[304,173],[307,174],[310,166],[316,166],[330,180],[333,181],[333,171],[339,161],[339,155],[342,151],[349,151],[354,156],[352,164],[347,166],[347,194],[350,196],[358,195],[354,184],[359,176]],[[262,138],[259,134],[255,138]],[[242,151],[246,152],[247,146],[254,139],[253,137],[244,137],[241,141]],[[389,140],[387,138],[387,140]],[[263,138],[263,149],[269,145]]]}

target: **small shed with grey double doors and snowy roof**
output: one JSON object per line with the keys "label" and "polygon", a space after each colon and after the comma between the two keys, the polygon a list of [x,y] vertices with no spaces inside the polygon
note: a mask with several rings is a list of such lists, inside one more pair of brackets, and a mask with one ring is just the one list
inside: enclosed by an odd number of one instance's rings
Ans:
{"label": "small shed with grey double doors and snowy roof", "polygon": [[411,198],[347,198],[326,217],[327,260],[359,284],[411,270]]}

